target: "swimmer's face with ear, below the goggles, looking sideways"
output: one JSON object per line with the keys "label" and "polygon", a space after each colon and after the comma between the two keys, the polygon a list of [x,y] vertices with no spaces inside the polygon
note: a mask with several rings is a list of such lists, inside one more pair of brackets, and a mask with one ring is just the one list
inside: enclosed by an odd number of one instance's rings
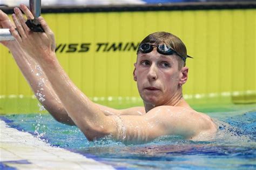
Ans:
{"label": "swimmer's face with ear, below the goggles, looking sideways", "polygon": [[168,104],[178,93],[180,85],[185,83],[182,81],[185,67],[178,70],[177,59],[173,55],[161,55],[156,48],[150,53],[139,52],[134,66],[134,80],[144,103],[154,106]]}

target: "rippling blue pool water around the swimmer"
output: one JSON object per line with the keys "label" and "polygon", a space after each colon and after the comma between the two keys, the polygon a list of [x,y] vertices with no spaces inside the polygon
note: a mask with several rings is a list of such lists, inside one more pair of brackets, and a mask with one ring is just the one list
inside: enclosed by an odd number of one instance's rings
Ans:
{"label": "rippling blue pool water around the swimmer", "polygon": [[117,169],[256,169],[256,107],[210,112],[219,131],[213,141],[165,136],[142,145],[108,138],[89,142],[75,126],[60,124],[49,114],[3,115],[9,126],[29,132]]}

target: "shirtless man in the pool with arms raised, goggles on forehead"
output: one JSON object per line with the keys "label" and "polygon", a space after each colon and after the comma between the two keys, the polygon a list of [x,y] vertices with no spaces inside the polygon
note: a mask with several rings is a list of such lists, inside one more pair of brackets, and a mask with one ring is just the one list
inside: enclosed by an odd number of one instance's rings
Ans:
{"label": "shirtless man in the pool with arms raised, goggles on forehead", "polygon": [[[28,19],[33,19],[25,5],[20,7]],[[155,32],[142,40],[133,78],[144,107],[116,110],[93,103],[72,83],[58,63],[53,32],[42,17],[38,19],[45,32],[33,33],[22,12],[18,8],[14,11],[17,30],[0,11],[1,28],[9,28],[16,39],[2,44],[11,51],[37,98],[56,120],[78,126],[88,140],[105,136],[122,142],[147,142],[163,135],[190,140],[214,137],[217,126],[212,119],[194,111],[182,97],[188,68],[186,47],[178,37]],[[39,74],[31,71],[35,68]]]}

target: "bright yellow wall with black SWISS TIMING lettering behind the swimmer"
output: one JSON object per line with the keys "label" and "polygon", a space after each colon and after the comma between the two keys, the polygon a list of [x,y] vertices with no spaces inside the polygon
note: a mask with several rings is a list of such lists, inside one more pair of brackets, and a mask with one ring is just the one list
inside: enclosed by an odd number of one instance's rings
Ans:
{"label": "bright yellow wall with black SWISS TIMING lettering behind the swimmer", "polygon": [[[136,51],[96,52],[97,43],[137,43],[155,31],[187,46],[190,103],[253,103],[256,98],[256,9],[42,14],[55,32],[57,57],[74,83],[93,100],[141,103],[132,79]],[[90,43],[87,52],[60,52],[64,44]],[[67,45],[66,45],[67,46]],[[107,47],[107,49],[109,46]],[[107,50],[106,49],[106,50]],[[124,49],[124,46],[122,47]],[[8,50],[0,46],[0,113],[36,112],[35,99]],[[21,104],[22,96],[26,103]],[[16,96],[15,96],[16,95]],[[122,98],[120,98],[122,97]],[[135,97],[135,98],[133,98]],[[24,100],[26,98],[27,100]],[[109,100],[107,100],[109,99]],[[197,99],[197,100],[194,100]],[[201,100],[198,100],[201,99]],[[207,99],[207,100],[206,100]]]}

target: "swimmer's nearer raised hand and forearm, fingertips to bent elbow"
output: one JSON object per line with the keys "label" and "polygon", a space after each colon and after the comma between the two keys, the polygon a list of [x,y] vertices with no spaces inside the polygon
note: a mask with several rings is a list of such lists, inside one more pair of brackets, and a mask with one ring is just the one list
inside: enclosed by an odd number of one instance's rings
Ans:
{"label": "swimmer's nearer raised hand and forearm, fingertips to bent elbow", "polygon": [[[25,5],[22,10],[29,19],[31,15]],[[59,65],[55,56],[55,38],[42,17],[39,17],[45,32],[32,33],[25,24],[22,12],[14,9],[12,15],[18,32],[11,26],[10,31],[16,38],[19,46],[39,64],[48,78],[52,89],[64,106],[69,117],[82,130],[88,139],[103,137],[107,134],[114,135],[116,124],[106,116],[100,107],[87,98],[69,79],[68,75]]]}

